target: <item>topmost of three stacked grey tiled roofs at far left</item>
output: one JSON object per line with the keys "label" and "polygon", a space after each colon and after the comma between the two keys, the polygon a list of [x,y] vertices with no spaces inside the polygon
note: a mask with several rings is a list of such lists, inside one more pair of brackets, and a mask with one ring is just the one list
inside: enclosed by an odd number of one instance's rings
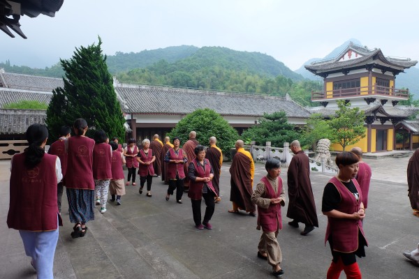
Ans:
{"label": "topmost of three stacked grey tiled roofs at far left", "polygon": [[64,82],[62,78],[56,77],[39,77],[37,75],[0,73],[0,89],[1,87],[52,92],[52,89],[56,89],[57,87],[64,87]]}

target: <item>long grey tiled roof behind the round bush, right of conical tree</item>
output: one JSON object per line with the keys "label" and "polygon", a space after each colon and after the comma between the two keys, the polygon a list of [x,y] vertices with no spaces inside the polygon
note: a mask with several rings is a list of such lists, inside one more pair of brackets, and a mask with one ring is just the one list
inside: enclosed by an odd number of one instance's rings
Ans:
{"label": "long grey tiled roof behind the round bush, right of conical tree", "polygon": [[262,116],[286,112],[288,117],[307,118],[310,112],[285,97],[176,89],[159,86],[115,87],[128,114],[189,114],[210,108],[223,116]]}

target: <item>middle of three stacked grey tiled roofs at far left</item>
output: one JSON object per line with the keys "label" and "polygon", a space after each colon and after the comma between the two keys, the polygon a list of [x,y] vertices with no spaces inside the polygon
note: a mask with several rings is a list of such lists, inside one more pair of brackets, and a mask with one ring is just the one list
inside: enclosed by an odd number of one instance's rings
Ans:
{"label": "middle of three stacked grey tiled roofs at far left", "polygon": [[50,103],[52,93],[34,92],[34,91],[19,91],[19,90],[2,90],[0,88],[0,108],[3,105],[16,103],[20,100],[37,100],[39,103]]}

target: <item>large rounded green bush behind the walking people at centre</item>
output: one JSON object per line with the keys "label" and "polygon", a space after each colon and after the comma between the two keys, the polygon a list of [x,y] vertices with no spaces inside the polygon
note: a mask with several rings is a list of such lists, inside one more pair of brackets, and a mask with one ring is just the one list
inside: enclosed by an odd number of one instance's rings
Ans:
{"label": "large rounded green bush behind the walking people at centre", "polygon": [[231,127],[220,114],[210,109],[199,109],[186,115],[168,133],[168,136],[170,138],[179,137],[183,144],[189,140],[189,133],[193,130],[196,131],[196,140],[203,145],[208,144],[210,137],[216,137],[216,145],[226,157],[230,155],[230,149],[239,139],[237,130]]}

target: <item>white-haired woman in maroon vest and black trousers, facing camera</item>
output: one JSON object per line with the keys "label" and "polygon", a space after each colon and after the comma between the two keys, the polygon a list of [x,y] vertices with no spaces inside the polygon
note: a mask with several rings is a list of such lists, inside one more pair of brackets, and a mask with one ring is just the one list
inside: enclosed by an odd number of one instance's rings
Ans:
{"label": "white-haired woman in maroon vest and black trousers, facing camera", "polygon": [[141,142],[142,149],[138,152],[137,162],[140,163],[138,167],[138,174],[140,175],[140,190],[138,193],[142,194],[142,188],[144,188],[145,181],[147,181],[147,197],[152,197],[152,181],[154,176],[153,162],[156,160],[156,156],[153,155],[152,149],[149,149],[150,141],[145,139]]}

